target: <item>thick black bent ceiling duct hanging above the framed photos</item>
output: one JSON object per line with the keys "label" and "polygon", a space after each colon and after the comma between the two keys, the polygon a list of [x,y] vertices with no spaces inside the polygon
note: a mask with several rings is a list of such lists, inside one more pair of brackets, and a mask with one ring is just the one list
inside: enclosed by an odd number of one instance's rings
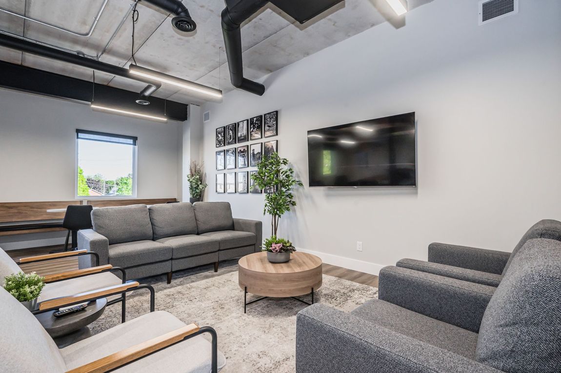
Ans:
{"label": "thick black bent ceiling duct hanging above the framed photos", "polygon": [[[341,1],[343,0],[270,0],[301,24]],[[265,86],[243,77],[240,25],[267,3],[269,0],[226,0],[226,8],[222,11],[222,34],[232,85],[259,96],[265,93]]]}

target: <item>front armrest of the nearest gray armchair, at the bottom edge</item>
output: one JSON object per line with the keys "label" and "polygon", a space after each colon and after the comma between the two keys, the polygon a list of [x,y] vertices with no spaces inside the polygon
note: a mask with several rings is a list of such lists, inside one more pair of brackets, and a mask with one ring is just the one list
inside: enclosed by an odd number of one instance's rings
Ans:
{"label": "front armrest of the nearest gray armchair, at the bottom edge", "polygon": [[499,373],[360,317],[316,304],[296,316],[297,373]]}

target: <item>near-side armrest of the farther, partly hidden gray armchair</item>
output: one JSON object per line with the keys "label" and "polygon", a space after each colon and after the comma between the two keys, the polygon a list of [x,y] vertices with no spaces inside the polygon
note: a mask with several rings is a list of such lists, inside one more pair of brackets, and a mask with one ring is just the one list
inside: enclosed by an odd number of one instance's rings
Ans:
{"label": "near-side armrest of the farther, partly hidden gray armchair", "polygon": [[476,271],[473,269],[416,259],[401,259],[396,263],[396,266],[426,273],[433,273],[435,275],[455,278],[458,280],[475,282],[476,284],[494,286],[495,288],[499,286],[500,280],[503,279],[502,275],[495,273]]}

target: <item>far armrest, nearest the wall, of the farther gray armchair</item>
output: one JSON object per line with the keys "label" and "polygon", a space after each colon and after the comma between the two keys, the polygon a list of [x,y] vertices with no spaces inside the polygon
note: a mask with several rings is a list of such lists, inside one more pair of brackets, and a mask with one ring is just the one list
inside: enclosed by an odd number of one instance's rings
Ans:
{"label": "far armrest, nearest the wall, of the farther gray armchair", "polygon": [[510,252],[434,242],[429,245],[429,261],[495,274],[502,274]]}

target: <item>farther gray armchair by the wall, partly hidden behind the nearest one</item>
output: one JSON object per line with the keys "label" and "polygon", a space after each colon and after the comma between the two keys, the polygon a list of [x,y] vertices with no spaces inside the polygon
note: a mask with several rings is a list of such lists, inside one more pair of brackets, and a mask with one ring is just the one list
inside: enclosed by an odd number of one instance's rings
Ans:
{"label": "farther gray armchair by the wall, partly hidden behind the nearest one", "polygon": [[540,220],[522,236],[511,252],[468,246],[431,243],[429,261],[402,259],[398,267],[433,273],[445,277],[497,287],[518,250],[534,238],[561,241],[561,222]]}

